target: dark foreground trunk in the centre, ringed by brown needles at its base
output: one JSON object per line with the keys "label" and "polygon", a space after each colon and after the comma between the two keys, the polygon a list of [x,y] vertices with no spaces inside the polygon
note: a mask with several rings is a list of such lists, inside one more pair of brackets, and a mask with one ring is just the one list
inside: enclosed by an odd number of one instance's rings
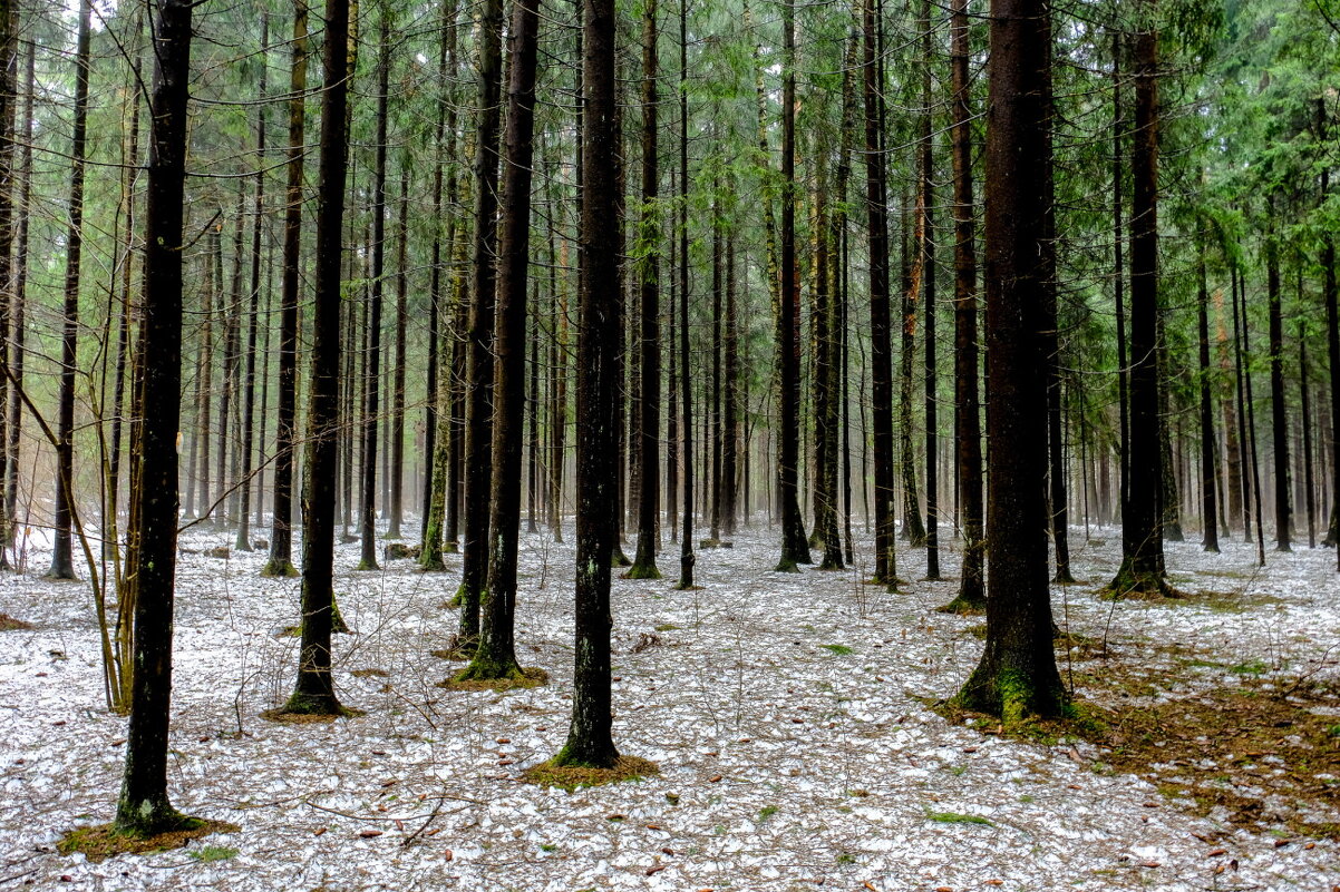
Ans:
{"label": "dark foreground trunk in the centre, ringed by brown needles at its base", "polygon": [[614,767],[610,680],[610,560],[618,536],[619,273],[610,221],[618,212],[614,0],[584,0],[582,325],[578,336],[578,552],[572,723],[560,766]]}

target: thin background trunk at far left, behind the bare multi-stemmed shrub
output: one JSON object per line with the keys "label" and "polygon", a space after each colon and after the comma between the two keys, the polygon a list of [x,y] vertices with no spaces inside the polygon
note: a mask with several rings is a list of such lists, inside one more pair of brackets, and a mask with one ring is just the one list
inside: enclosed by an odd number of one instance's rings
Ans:
{"label": "thin background trunk at far left, behind the bare multi-stemmed shrub", "polygon": [[[92,0],[79,3],[75,43],[74,135],[70,143],[70,228],[66,233],[64,319],[60,339],[60,406],[56,418],[56,514],[48,579],[75,579],[71,540],[74,510],[75,376],[79,340],[79,261],[83,256],[84,154],[88,135],[88,43]],[[8,13],[5,13],[8,20]],[[27,213],[27,209],[24,209]],[[176,478],[173,478],[176,479]]]}

